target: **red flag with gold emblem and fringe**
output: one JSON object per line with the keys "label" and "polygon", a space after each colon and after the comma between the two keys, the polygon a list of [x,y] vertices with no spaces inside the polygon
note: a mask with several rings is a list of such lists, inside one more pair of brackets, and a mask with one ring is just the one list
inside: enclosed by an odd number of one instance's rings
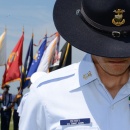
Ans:
{"label": "red flag with gold emblem and fringe", "polygon": [[20,66],[22,65],[22,51],[23,51],[24,33],[16,44],[15,48],[9,55],[6,69],[3,75],[2,88],[9,82],[20,80]]}

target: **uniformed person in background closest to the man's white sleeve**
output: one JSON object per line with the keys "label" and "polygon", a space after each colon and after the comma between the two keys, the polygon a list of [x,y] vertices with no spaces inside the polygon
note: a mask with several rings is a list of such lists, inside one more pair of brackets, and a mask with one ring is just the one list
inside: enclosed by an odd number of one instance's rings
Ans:
{"label": "uniformed person in background closest to the man's white sleeve", "polygon": [[22,99],[22,92],[21,92],[20,87],[17,87],[17,89],[18,89],[18,93],[15,96],[14,101],[13,101],[13,103],[14,103],[14,112],[13,112],[14,130],[18,130],[19,115],[18,115],[17,109],[18,109],[18,106],[19,106],[21,99]]}

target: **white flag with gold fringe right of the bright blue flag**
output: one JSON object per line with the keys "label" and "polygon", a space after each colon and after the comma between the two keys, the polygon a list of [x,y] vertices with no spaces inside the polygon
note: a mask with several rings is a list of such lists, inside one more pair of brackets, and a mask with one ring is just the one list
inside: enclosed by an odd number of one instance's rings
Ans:
{"label": "white flag with gold fringe right of the bright blue flag", "polygon": [[42,59],[40,61],[40,64],[37,68],[37,71],[43,71],[43,72],[48,72],[48,68],[50,66],[51,60],[55,54],[55,50],[57,48],[57,44],[59,43],[60,35],[59,33],[56,33],[56,37],[54,40],[52,40],[48,47],[46,48]]}

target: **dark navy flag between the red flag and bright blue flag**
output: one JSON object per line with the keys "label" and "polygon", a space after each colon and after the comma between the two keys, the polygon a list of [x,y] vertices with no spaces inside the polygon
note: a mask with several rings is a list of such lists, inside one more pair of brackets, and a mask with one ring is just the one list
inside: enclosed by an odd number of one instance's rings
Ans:
{"label": "dark navy flag between the red flag and bright blue flag", "polygon": [[21,88],[25,88],[25,84],[26,84],[26,76],[27,76],[27,72],[31,66],[31,63],[33,61],[33,35],[27,50],[27,54],[25,57],[25,62],[24,62],[24,66],[22,69],[22,74],[21,74]]}

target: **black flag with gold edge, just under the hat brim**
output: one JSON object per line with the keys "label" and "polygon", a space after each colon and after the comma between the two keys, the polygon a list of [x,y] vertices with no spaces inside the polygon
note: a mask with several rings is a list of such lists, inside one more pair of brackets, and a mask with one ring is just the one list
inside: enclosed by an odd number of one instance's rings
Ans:
{"label": "black flag with gold edge, just under the hat brim", "polygon": [[58,60],[51,64],[49,71],[54,71],[71,64],[72,47],[70,43],[65,43],[58,53]]}

